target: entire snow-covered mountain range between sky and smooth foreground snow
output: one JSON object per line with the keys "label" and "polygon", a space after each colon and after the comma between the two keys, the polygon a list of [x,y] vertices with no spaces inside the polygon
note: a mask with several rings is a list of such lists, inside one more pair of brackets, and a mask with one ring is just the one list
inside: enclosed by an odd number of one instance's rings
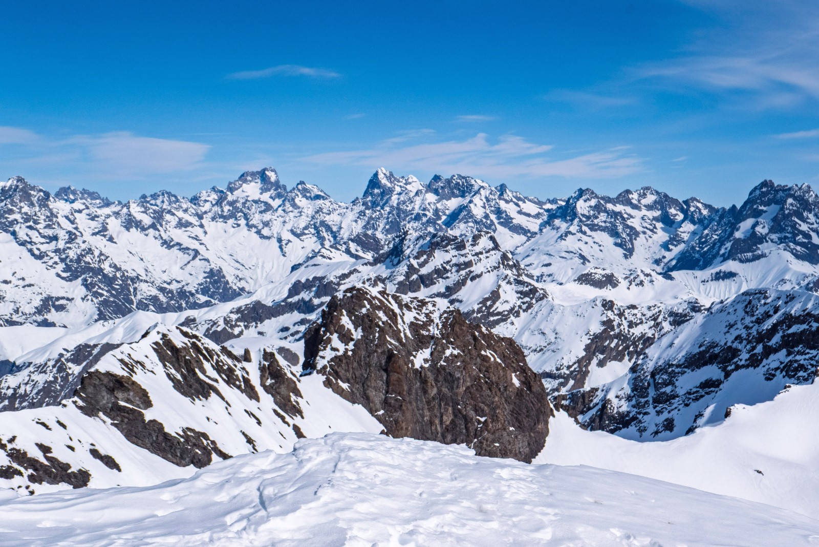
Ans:
{"label": "entire snow-covered mountain range between sky and smooth foreground snow", "polygon": [[351,203],[273,169],[127,202],[18,177],[0,245],[0,484],[20,491],[336,431],[529,461],[554,412],[672,441],[817,375],[807,185],[726,209],[387,170]]}

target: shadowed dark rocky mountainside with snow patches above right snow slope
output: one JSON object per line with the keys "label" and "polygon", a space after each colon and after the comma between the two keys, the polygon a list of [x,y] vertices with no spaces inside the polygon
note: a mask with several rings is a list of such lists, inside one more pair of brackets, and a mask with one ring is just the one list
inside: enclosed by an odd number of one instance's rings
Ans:
{"label": "shadowed dark rocky mountainside with snow patches above right snow slope", "polygon": [[[816,307],[816,296],[804,292],[746,291],[686,325],[696,337],[683,349],[673,349],[675,336],[644,348],[626,387],[576,389],[554,404],[590,429],[622,436],[659,440],[694,432],[730,415],[731,405],[814,381]],[[711,405],[718,408],[708,413]]]}

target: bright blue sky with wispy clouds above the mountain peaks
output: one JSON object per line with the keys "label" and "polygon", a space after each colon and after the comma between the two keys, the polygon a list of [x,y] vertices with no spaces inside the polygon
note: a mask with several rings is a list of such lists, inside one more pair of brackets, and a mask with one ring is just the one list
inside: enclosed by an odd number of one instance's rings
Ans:
{"label": "bright blue sky with wispy clouds above the mountain peaks", "polygon": [[[507,5],[509,4],[509,5]],[[7,2],[0,177],[115,199],[274,166],[717,205],[819,186],[819,4]]]}

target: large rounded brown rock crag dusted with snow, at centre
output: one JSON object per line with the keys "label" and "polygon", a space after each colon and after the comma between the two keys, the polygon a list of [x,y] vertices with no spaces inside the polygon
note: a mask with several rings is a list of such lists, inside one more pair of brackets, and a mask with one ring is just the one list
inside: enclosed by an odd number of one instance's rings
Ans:
{"label": "large rounded brown rock crag dusted with snow, at centre", "polygon": [[436,301],[358,287],[334,296],[305,334],[303,369],[391,436],[531,462],[548,433],[545,387],[520,347]]}

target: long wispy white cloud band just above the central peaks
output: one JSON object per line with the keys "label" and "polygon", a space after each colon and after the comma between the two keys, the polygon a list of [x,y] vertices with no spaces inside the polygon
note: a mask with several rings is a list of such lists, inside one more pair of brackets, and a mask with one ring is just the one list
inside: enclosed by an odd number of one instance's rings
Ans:
{"label": "long wispy white cloud band just above the central peaks", "polygon": [[306,156],[303,160],[324,165],[365,165],[376,168],[441,173],[475,174],[486,178],[560,176],[603,179],[642,170],[642,160],[618,147],[568,158],[546,156],[554,147],[505,135],[490,142],[486,133],[463,141],[405,144],[388,139],[378,145],[351,151]]}

